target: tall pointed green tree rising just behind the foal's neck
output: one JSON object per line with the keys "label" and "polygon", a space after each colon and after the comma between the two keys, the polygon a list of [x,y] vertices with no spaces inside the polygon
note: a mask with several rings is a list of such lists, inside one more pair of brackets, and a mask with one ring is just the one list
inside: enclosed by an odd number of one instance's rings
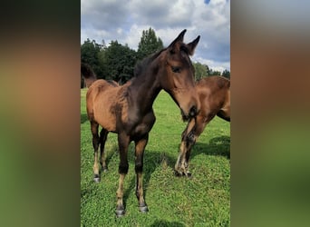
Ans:
{"label": "tall pointed green tree rising just behind the foal's neck", "polygon": [[162,41],[157,38],[155,31],[151,28],[143,30],[138,44],[138,58],[141,60],[150,54],[154,54],[163,48]]}

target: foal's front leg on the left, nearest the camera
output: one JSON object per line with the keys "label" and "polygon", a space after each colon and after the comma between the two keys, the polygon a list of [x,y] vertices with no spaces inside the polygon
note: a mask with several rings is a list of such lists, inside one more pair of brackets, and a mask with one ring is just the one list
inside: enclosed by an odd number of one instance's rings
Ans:
{"label": "foal's front leg on the left, nearest the camera", "polygon": [[123,197],[123,183],[124,183],[124,179],[125,179],[126,174],[128,173],[128,168],[129,168],[128,159],[127,159],[127,151],[128,151],[128,146],[130,143],[130,137],[124,134],[119,134],[118,140],[119,140],[121,162],[119,165],[120,181],[119,181],[119,188],[116,192],[117,207],[116,207],[115,213],[118,217],[121,217],[125,214],[122,197]]}

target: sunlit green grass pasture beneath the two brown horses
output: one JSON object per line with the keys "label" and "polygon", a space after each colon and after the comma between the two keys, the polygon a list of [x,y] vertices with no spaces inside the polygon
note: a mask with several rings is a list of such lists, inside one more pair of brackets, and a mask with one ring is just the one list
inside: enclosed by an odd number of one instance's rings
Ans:
{"label": "sunlit green grass pasture beneath the two brown horses", "polygon": [[180,134],[186,123],[169,94],[161,92],[153,108],[156,123],[144,153],[143,183],[150,212],[140,213],[135,196],[134,146],[124,183],[126,214],[116,218],[119,155],[117,137],[105,146],[109,172],[93,183],[92,134],[81,90],[81,226],[229,226],[230,123],[216,117],[199,137],[190,156],[192,179],[175,177]]}

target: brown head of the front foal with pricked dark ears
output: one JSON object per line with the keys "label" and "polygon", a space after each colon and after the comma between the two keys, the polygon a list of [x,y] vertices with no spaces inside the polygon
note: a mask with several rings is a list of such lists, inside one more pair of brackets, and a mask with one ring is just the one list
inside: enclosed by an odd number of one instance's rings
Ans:
{"label": "brown head of the front foal with pricked dark ears", "polygon": [[195,89],[195,70],[189,55],[194,54],[199,43],[198,36],[189,44],[183,43],[186,29],[160,54],[160,85],[170,94],[181,109],[183,120],[194,117],[199,112],[199,97]]}

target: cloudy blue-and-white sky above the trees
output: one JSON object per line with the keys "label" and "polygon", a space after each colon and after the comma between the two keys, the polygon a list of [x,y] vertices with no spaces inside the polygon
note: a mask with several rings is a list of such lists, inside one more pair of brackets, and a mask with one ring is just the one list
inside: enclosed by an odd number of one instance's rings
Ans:
{"label": "cloudy blue-and-white sky above the trees", "polygon": [[164,46],[183,29],[184,43],[200,35],[193,62],[230,71],[230,0],[82,0],[81,44],[117,40],[138,50],[143,30],[152,28]]}

